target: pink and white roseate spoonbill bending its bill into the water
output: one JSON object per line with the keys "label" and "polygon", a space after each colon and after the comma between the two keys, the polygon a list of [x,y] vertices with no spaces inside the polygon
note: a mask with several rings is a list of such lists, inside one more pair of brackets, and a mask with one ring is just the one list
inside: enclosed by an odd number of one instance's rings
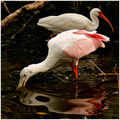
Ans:
{"label": "pink and white roseate spoonbill bending its bill into the water", "polygon": [[58,34],[48,41],[49,51],[43,62],[31,64],[21,70],[17,89],[24,87],[27,80],[33,75],[48,71],[62,60],[70,62],[75,77],[77,77],[79,59],[99,47],[104,48],[105,45],[102,41],[107,42],[109,38],[96,33],[96,31],[88,32],[74,29]]}

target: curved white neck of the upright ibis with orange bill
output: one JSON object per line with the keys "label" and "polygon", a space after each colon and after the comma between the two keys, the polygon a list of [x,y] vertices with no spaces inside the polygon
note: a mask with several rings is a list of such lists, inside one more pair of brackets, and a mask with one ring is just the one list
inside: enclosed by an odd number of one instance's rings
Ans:
{"label": "curved white neck of the upright ibis with orange bill", "polygon": [[96,30],[99,26],[99,19],[97,16],[93,15],[92,13],[90,13],[90,18],[92,20],[91,31]]}

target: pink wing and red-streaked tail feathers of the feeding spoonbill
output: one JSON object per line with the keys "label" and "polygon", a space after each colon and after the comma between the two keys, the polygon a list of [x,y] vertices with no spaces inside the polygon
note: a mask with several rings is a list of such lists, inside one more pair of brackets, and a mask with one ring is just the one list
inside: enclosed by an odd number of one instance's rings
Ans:
{"label": "pink wing and red-streaked tail feathers of the feeding spoonbill", "polygon": [[86,37],[81,37],[80,39],[75,40],[72,45],[67,46],[64,49],[63,52],[71,58],[81,58],[95,51],[99,47],[104,48],[105,45],[101,40],[109,41],[108,37],[95,32],[87,32],[82,30],[73,32],[73,34],[85,35]]}

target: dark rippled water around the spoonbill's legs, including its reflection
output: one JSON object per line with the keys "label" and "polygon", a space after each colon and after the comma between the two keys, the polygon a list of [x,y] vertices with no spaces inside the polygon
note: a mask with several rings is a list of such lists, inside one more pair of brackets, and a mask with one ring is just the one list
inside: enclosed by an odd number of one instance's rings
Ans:
{"label": "dark rippled water around the spoonbill's legs, including its reflection", "polygon": [[[31,36],[28,35],[29,39]],[[44,39],[44,38],[41,38]],[[47,55],[44,41],[2,40],[1,59],[1,117],[3,119],[113,119],[119,118],[119,93],[116,76],[98,75],[100,71],[113,73],[119,63],[118,44],[82,58],[78,79],[69,66],[50,70],[32,77],[26,88],[15,91],[20,70],[37,63]],[[42,46],[42,47],[41,47]],[[118,66],[116,71],[118,72]]]}

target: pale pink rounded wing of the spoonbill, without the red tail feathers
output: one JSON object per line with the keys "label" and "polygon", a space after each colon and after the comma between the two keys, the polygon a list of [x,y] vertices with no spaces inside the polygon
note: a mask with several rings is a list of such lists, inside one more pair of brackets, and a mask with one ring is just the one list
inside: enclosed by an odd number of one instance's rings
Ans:
{"label": "pale pink rounded wing of the spoonbill, without the red tail feathers", "polygon": [[84,36],[83,38],[75,41],[73,44],[66,46],[63,52],[65,53],[65,55],[71,58],[81,58],[95,50],[96,48],[91,39],[87,39]]}

